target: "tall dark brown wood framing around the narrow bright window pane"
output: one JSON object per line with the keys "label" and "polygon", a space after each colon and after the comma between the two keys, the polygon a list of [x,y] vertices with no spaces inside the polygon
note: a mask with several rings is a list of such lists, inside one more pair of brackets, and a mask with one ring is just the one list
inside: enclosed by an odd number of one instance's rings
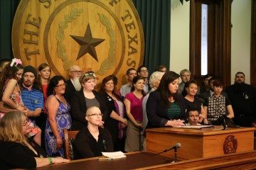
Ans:
{"label": "tall dark brown wood framing around the narrow bright window pane", "polygon": [[191,0],[189,69],[201,76],[201,4],[208,4],[208,73],[230,85],[232,0]]}

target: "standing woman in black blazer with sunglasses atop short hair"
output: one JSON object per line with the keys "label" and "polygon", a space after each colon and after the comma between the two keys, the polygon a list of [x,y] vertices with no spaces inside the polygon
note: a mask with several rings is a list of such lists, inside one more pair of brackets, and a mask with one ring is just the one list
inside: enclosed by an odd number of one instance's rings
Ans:
{"label": "standing woman in black blazer with sunglasses atop short hair", "polygon": [[73,117],[72,130],[81,130],[87,125],[85,112],[87,108],[96,106],[103,114],[102,120],[108,117],[108,110],[105,101],[100,94],[95,91],[97,78],[94,72],[86,72],[80,76],[82,89],[77,91],[70,98],[71,115]]}

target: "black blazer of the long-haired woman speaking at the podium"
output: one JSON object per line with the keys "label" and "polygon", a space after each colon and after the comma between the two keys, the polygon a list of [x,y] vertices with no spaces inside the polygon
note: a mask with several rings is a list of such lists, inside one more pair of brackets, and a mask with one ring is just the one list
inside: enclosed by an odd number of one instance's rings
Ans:
{"label": "black blazer of the long-haired woman speaking at the podium", "polygon": [[[161,106],[160,101],[161,95],[159,91],[152,91],[149,94],[149,99],[146,102],[146,115],[148,117],[149,123],[147,124],[146,128],[164,127],[164,125],[169,120],[167,115],[167,109],[169,106]],[[181,117],[179,119],[185,119],[186,104],[185,99],[181,94],[178,94],[178,106],[181,108]]]}

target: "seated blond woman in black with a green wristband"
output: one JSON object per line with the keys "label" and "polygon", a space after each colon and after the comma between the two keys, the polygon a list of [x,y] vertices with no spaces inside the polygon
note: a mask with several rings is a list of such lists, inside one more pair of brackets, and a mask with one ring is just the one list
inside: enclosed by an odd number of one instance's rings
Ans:
{"label": "seated blond woman in black with a green wristband", "polygon": [[0,121],[1,169],[31,169],[48,164],[69,162],[61,157],[47,157],[36,142],[28,141],[28,118],[23,112],[6,113]]}

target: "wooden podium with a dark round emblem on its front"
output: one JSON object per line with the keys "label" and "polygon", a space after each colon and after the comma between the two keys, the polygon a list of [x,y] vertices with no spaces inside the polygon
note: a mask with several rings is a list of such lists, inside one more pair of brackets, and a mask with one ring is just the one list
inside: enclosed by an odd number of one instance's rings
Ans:
{"label": "wooden podium with a dark round emblem on its front", "polygon": [[[146,151],[158,153],[181,143],[178,158],[195,159],[218,157],[225,154],[251,152],[255,128],[228,128],[221,126],[203,129],[154,128],[146,130]],[[174,155],[174,151],[164,153]]]}

